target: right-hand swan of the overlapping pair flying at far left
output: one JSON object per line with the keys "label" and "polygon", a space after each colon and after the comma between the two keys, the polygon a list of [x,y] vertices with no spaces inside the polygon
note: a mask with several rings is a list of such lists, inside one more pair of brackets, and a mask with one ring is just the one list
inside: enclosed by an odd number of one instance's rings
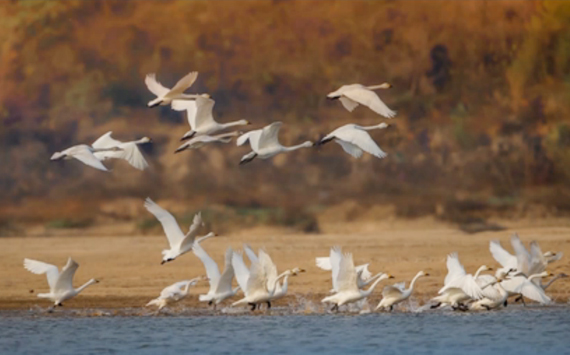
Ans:
{"label": "right-hand swan of the overlapping pair flying at far left", "polygon": [[95,157],[101,161],[106,159],[124,159],[129,162],[134,168],[139,170],[144,170],[148,168],[148,163],[144,159],[142,153],[140,152],[138,145],[144,143],[151,143],[152,139],[148,137],[143,137],[136,141],[130,142],[121,142],[111,137],[113,132],[109,131],[99,137],[93,144],[91,145],[93,148],[96,149],[105,149],[105,148],[112,148],[112,147],[119,147],[121,151],[114,152],[114,151],[104,151],[104,152],[95,152],[93,153]]}

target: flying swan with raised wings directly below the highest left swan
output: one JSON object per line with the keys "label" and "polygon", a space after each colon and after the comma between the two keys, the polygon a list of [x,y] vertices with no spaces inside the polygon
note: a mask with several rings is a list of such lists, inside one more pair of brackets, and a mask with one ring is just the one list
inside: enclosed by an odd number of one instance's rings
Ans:
{"label": "flying swan with raised wings directly below the highest left swan", "polygon": [[[177,103],[177,108],[188,107],[186,112],[188,123],[190,124],[190,130],[186,132],[180,140],[183,141],[200,135],[211,135],[226,128],[251,124],[248,120],[239,120],[228,123],[216,122],[212,115],[214,103],[215,101],[210,99],[207,95],[199,95],[196,98],[195,103],[191,101]],[[194,105],[196,108],[195,113],[193,110]]]}

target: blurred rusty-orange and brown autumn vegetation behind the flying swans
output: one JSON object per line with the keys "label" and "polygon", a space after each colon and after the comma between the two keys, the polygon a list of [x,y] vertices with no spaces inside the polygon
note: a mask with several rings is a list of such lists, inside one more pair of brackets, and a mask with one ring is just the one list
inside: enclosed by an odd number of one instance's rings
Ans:
{"label": "blurred rusty-orange and brown autumn vegetation behind the flying swans", "polygon": [[[2,1],[0,18],[0,234],[145,231],[146,196],[222,229],[317,231],[339,205],[346,218],[462,226],[570,212],[570,2]],[[192,70],[189,92],[210,93],[220,121],[283,121],[286,144],[378,123],[326,94],[388,81],[379,94],[398,115],[373,138],[389,156],[327,145],[240,167],[247,149],[234,144],[175,155],[186,118],[146,108],[143,80],[170,86]],[[151,137],[151,168],[49,160],[109,130]]]}

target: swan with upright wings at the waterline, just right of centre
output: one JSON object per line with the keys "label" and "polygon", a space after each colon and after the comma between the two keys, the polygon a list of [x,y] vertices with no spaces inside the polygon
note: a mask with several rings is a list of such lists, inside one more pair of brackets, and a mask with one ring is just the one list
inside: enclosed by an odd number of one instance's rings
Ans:
{"label": "swan with upright wings at the waterline, just right of centre", "polygon": [[347,303],[353,303],[364,299],[374,291],[374,288],[382,280],[394,278],[392,275],[382,274],[372,283],[368,290],[358,288],[356,268],[351,253],[344,253],[340,259],[340,268],[337,276],[338,292],[325,297],[322,303],[333,303],[331,311],[338,311],[338,308]]}

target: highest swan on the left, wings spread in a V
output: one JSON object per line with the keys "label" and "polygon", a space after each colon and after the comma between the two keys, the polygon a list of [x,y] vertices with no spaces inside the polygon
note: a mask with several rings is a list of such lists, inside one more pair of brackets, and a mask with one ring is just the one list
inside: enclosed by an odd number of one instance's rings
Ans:
{"label": "highest swan on the left, wings spread in a V", "polygon": [[172,103],[173,100],[193,100],[198,97],[198,95],[184,94],[184,91],[188,89],[198,78],[198,72],[190,72],[186,74],[182,79],[178,80],[176,85],[172,89],[165,88],[156,80],[156,75],[154,73],[147,74],[144,79],[146,87],[156,95],[156,99],[148,102],[148,107],[156,107],[158,105],[167,106]]}

